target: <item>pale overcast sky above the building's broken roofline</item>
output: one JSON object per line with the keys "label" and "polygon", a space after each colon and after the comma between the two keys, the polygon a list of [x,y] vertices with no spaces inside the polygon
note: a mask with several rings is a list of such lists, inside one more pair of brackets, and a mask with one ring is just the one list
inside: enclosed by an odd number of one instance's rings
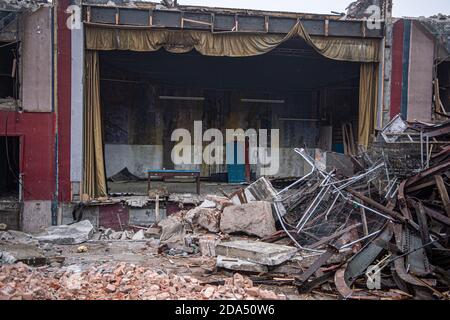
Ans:
{"label": "pale overcast sky above the building's broken roofline", "polygon": [[[307,13],[344,12],[352,0],[178,0],[181,5]],[[394,0],[395,17],[450,15],[450,0]]]}

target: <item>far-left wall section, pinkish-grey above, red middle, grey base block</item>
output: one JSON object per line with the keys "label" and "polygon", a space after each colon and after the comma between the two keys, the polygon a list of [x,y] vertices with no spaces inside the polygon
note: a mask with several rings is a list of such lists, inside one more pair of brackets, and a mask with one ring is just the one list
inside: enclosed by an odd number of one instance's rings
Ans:
{"label": "far-left wall section, pinkish-grey above, red middle, grey base block", "polygon": [[40,232],[52,223],[55,192],[55,115],[52,113],[52,9],[23,15],[20,35],[21,105],[24,113],[0,112],[0,132],[20,137],[23,175],[22,230]]}

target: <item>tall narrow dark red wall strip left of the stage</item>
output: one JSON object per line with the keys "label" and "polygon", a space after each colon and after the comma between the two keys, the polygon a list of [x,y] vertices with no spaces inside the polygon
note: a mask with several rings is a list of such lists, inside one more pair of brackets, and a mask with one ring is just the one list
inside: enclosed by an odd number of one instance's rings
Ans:
{"label": "tall narrow dark red wall strip left of the stage", "polygon": [[71,199],[70,186],[70,114],[71,114],[71,31],[67,28],[66,12],[70,0],[59,0],[58,22],[58,200]]}

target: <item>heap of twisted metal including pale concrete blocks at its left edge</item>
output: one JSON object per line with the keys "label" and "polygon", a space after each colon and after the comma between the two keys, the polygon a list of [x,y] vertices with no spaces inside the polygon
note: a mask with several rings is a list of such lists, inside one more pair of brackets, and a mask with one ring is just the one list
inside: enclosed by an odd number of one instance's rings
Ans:
{"label": "heap of twisted metal including pale concrete blocks at its left edge", "polygon": [[[323,290],[357,300],[448,299],[449,135],[449,123],[407,123],[396,117],[379,139],[385,144],[415,141],[421,153],[404,155],[409,175],[400,168],[401,157],[389,158],[383,150],[378,157],[365,152],[353,157],[357,173],[346,176],[326,171],[306,150],[295,149],[311,172],[281,191],[264,192],[272,188],[259,181],[256,195],[264,194],[271,206],[257,196],[249,201],[254,186],[229,197],[235,205],[222,211],[220,230],[262,241],[216,244],[217,267],[264,274],[252,279],[295,285],[300,293]],[[246,213],[247,207],[257,209]],[[271,211],[280,231],[273,216],[265,214]],[[283,246],[268,243],[283,241],[296,250],[274,259]]]}

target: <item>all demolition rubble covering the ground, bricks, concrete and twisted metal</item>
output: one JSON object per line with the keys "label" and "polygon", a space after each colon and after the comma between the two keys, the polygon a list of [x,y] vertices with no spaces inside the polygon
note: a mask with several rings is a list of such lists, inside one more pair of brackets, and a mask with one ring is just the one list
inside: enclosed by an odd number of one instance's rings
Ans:
{"label": "all demolition rubble covering the ground, bricks, concrete and twisted metal", "polygon": [[295,149],[303,177],[209,195],[148,228],[2,231],[0,298],[448,300],[449,137],[450,123],[396,117],[349,155],[352,175]]}

